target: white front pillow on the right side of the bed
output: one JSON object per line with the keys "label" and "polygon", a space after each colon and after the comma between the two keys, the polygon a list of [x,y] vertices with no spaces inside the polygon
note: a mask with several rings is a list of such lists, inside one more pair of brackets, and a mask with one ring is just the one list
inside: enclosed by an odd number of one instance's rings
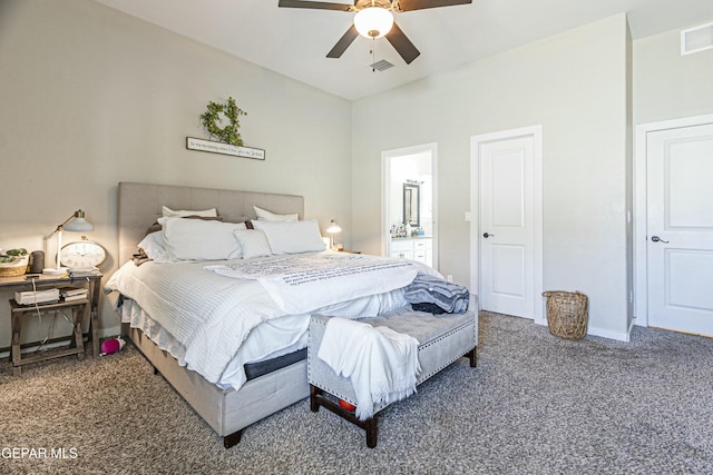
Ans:
{"label": "white front pillow on the right side of the bed", "polygon": [[253,221],[267,237],[273,254],[297,254],[324,250],[324,243],[316,220]]}

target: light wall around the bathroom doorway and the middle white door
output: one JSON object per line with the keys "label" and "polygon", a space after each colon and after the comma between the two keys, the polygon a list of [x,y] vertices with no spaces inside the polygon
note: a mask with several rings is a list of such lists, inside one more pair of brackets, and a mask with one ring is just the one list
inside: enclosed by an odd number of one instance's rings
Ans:
{"label": "light wall around the bathroom doorway and the middle white door", "polygon": [[631,320],[624,14],[354,103],[353,247],[380,249],[381,151],[438,144],[440,270],[468,284],[470,137],[543,125],[544,287],[590,298],[589,330]]}

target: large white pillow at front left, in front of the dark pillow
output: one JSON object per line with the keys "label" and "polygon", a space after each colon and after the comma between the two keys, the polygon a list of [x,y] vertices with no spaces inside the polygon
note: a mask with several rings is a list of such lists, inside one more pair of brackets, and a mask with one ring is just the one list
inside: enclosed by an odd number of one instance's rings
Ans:
{"label": "large white pillow at front left, in front of the dark pillow", "polygon": [[180,260],[237,259],[241,246],[233,231],[247,229],[244,222],[222,222],[174,217],[158,218],[164,247]]}

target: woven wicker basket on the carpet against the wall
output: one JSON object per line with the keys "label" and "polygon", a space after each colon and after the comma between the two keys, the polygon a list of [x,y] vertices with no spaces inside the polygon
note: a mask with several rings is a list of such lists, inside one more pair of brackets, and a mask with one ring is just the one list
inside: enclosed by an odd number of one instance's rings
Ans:
{"label": "woven wicker basket on the carpet against the wall", "polygon": [[578,291],[546,291],[549,333],[565,339],[582,339],[587,334],[589,300]]}

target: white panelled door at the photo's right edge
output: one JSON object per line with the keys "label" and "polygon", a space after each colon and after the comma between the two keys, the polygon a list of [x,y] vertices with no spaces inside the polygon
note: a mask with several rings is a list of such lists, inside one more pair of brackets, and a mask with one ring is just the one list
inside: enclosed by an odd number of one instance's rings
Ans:
{"label": "white panelled door at the photo's right edge", "polygon": [[713,125],[647,133],[648,325],[713,336]]}

